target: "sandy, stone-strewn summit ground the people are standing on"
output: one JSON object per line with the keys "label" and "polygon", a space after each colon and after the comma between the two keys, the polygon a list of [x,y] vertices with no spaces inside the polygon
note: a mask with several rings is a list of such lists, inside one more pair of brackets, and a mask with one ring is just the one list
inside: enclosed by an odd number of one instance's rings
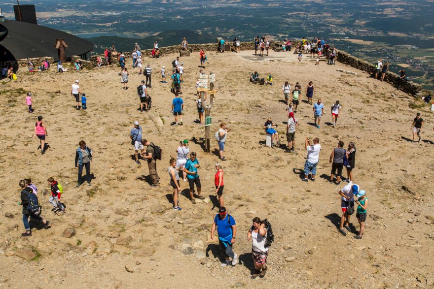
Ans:
{"label": "sandy, stone-strewn summit ground the people are standing on", "polygon": [[[2,288],[433,288],[434,284],[434,169],[432,112],[389,84],[337,63],[314,65],[309,57],[298,62],[292,54],[271,52],[269,58],[251,52],[208,53],[206,72],[217,75],[217,97],[211,111],[212,133],[221,121],[232,128],[226,144],[224,198],[238,227],[235,267],[220,267],[210,228],[217,208],[214,195],[216,151],[205,153],[205,129],[194,105],[198,54],[183,57],[183,126],[171,126],[169,84],[160,83],[162,65],[170,70],[175,55],[149,59],[154,69],[149,94],[154,106],[140,112],[136,87],[143,75],[130,75],[122,90],[117,67],[80,72],[49,71],[1,84],[0,153],[0,286]],[[146,62],[145,61],[145,62]],[[130,67],[131,62],[128,63]],[[345,73],[337,71],[350,71]],[[131,69],[133,72],[133,69]],[[249,83],[250,73],[273,75],[276,85]],[[170,75],[170,73],[168,73]],[[88,109],[76,111],[71,85],[80,80]],[[263,145],[262,125],[273,117],[285,135],[287,120],[281,96],[288,80],[305,88],[314,82],[325,104],[321,128],[312,125],[312,107],[300,103],[296,118],[296,151]],[[33,93],[35,112],[29,114],[25,92]],[[303,91],[304,95],[304,91]],[[305,99],[302,97],[301,99]],[[336,128],[329,107],[337,99],[343,111]],[[410,126],[422,113],[425,131],[412,143]],[[48,129],[49,149],[37,150],[32,138],[37,115]],[[139,120],[144,138],[163,149],[159,188],[149,188],[145,161],[133,161],[129,131]],[[304,183],[305,137],[322,145],[317,181]],[[172,210],[167,174],[179,141],[190,140],[198,153],[205,201],[193,205],[181,196],[181,212]],[[92,187],[75,188],[74,155],[79,140],[94,150]],[[285,140],[282,138],[282,140]],[[355,181],[370,199],[362,240],[337,232],[341,215],[337,186],[327,181],[328,157],[338,140],[357,146]],[[217,144],[211,140],[213,148]],[[64,216],[53,215],[43,193],[53,176],[64,187]],[[22,238],[18,181],[32,178],[39,188],[42,216],[48,230],[37,224],[33,236]],[[181,188],[187,190],[181,181]],[[187,192],[187,191],[184,191]],[[185,195],[188,195],[186,193]],[[270,248],[269,272],[251,280],[251,244],[247,231],[253,217],[268,218],[276,241]],[[352,218],[354,230],[358,229]],[[31,283],[30,283],[31,281]]]}

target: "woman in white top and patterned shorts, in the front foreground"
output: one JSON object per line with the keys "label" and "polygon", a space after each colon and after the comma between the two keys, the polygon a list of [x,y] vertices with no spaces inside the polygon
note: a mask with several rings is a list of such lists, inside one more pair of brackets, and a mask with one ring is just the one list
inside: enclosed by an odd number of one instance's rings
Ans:
{"label": "woman in white top and patterned shorts, in the front foreground", "polygon": [[258,217],[253,218],[253,225],[247,233],[247,240],[249,242],[252,241],[252,258],[254,264],[252,279],[258,276],[263,278],[268,269],[268,247],[265,247],[265,242],[267,241],[267,227]]}

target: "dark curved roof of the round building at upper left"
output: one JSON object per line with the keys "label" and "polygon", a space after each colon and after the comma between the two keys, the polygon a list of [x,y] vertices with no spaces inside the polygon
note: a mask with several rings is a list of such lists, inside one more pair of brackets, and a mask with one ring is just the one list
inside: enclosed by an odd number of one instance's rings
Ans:
{"label": "dark curved roof of the round building at upper left", "polygon": [[65,48],[67,57],[84,55],[93,48],[92,43],[88,40],[70,33],[14,20],[0,22],[0,38],[3,31],[1,26],[7,29],[7,36],[0,42],[0,45],[9,50],[15,59],[47,56],[57,60],[57,49],[54,48],[57,38],[63,38],[68,45]]}

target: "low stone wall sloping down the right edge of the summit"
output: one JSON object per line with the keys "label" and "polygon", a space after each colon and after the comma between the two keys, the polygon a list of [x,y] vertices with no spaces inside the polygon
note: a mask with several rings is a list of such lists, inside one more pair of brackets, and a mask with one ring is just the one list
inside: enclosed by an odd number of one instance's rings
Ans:
{"label": "low stone wall sloping down the right edge of the summit", "polygon": [[[337,61],[342,64],[347,64],[350,65],[351,67],[366,71],[370,74],[373,74],[375,72],[375,66],[373,64],[370,64],[364,60],[354,57],[351,54],[348,54],[344,51],[338,51]],[[384,80],[395,87],[401,82],[398,74],[390,71],[386,73],[386,77]],[[422,86],[412,81],[402,81],[400,86],[401,86],[400,87],[401,91],[411,94],[413,96],[416,95],[419,96],[422,91]]]}

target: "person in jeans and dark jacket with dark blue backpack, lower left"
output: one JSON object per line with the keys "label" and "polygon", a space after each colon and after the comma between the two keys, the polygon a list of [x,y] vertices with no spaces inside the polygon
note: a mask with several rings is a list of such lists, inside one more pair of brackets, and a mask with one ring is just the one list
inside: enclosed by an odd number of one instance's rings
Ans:
{"label": "person in jeans and dark jacket with dark blue backpack, lower left", "polygon": [[23,224],[26,229],[26,232],[22,233],[21,236],[30,237],[32,236],[32,230],[30,228],[29,218],[41,222],[44,225],[44,229],[48,229],[50,222],[45,221],[39,216],[41,213],[41,206],[39,205],[37,196],[33,193],[32,188],[26,187],[26,182],[24,180],[21,180],[19,185],[21,187],[21,202],[18,202],[18,204],[23,206]]}

